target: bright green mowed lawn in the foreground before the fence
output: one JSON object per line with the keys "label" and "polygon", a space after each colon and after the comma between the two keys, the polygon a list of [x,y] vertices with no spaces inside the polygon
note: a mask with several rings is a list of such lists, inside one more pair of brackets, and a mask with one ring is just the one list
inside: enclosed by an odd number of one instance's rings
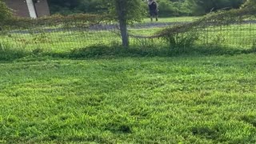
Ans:
{"label": "bright green mowed lawn in the foreground before the fence", "polygon": [[0,63],[0,143],[255,143],[256,54]]}

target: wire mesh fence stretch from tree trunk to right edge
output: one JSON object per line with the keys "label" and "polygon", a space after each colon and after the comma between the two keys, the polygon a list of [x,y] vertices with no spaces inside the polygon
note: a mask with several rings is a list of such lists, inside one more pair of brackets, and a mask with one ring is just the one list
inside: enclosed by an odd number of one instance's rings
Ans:
{"label": "wire mesh fence stretch from tree trunk to right edge", "polygon": [[[149,34],[144,33],[145,31],[156,32],[158,30],[163,30],[166,26],[179,26],[184,23],[189,23],[191,21],[182,22],[167,22],[161,23],[160,26],[152,26],[150,28],[139,28],[138,30],[132,31],[131,34],[135,35],[133,40],[134,45],[154,45],[154,46],[174,46],[168,43],[166,40],[160,38],[146,38],[141,36],[148,36]],[[231,23],[229,25],[216,26],[214,22],[209,23],[203,28],[194,27],[194,29],[189,30],[184,33],[174,34],[174,41],[180,42],[178,46],[186,46],[184,43],[188,40],[187,38],[194,37],[193,46],[203,46],[205,48],[210,47],[227,47],[232,49],[250,49],[256,44],[256,19],[246,19],[241,22]],[[177,44],[177,43],[176,43]],[[184,45],[182,45],[184,44]]]}

